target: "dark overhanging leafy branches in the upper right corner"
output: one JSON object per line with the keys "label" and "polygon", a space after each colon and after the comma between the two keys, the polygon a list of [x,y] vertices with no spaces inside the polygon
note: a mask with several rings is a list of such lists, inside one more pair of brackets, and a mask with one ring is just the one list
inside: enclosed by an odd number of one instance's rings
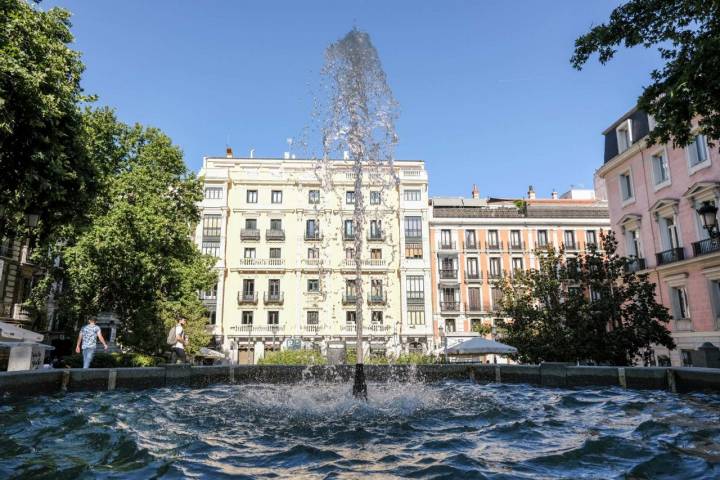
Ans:
{"label": "dark overhanging leafy branches in the upper right corner", "polygon": [[575,41],[571,63],[580,70],[597,53],[605,64],[621,44],[657,46],[665,61],[638,99],[638,107],[655,118],[651,143],[688,145],[695,118],[700,133],[720,138],[718,0],[630,0],[612,11],[608,23]]}

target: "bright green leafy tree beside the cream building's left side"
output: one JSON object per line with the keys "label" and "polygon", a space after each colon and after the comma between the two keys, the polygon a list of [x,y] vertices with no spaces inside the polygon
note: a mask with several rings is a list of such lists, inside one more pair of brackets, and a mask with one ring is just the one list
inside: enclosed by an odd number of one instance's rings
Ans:
{"label": "bright green leafy tree beside the cream building's left side", "polygon": [[202,184],[160,130],[129,127],[109,110],[88,111],[85,118],[88,150],[108,168],[83,221],[59,229],[48,243],[47,275],[34,302],[54,292],[71,330],[89,314],[112,311],[122,321],[120,342],[149,354],[184,316],[193,352],[209,340],[198,292],[217,281],[214,259],[192,241]]}

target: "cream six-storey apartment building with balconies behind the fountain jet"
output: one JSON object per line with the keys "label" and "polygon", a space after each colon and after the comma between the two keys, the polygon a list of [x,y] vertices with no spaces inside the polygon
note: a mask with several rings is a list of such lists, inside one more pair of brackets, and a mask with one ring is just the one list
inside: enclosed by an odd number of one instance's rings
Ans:
{"label": "cream six-storey apartment building with balconies behind the fountain jet", "polygon": [[[356,348],[356,192],[352,162],[206,157],[200,248],[217,257],[203,292],[216,344],[241,363],[316,348],[341,361]],[[432,344],[428,178],[422,161],[367,164],[361,239],[363,348]],[[427,292],[427,293],[426,293]]]}

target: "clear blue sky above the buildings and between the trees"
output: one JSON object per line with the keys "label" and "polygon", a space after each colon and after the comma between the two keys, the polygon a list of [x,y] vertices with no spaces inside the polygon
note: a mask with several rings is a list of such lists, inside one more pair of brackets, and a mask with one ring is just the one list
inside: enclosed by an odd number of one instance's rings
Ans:
{"label": "clear blue sky above the buildings and between the trees", "polygon": [[310,123],[325,47],[370,33],[400,104],[398,159],[432,195],[539,196],[592,186],[601,132],[660,64],[623,51],[570,67],[574,40],[617,0],[45,0],[73,12],[84,87],[126,122],[204,155],[280,157]]}

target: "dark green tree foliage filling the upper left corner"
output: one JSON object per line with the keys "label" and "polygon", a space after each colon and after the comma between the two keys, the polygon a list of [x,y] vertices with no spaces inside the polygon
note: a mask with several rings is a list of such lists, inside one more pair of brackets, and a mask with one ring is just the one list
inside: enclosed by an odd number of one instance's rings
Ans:
{"label": "dark green tree foliage filling the upper left corner", "polygon": [[81,140],[80,54],[70,14],[0,0],[0,236],[37,234],[73,221],[95,196],[98,164]]}

